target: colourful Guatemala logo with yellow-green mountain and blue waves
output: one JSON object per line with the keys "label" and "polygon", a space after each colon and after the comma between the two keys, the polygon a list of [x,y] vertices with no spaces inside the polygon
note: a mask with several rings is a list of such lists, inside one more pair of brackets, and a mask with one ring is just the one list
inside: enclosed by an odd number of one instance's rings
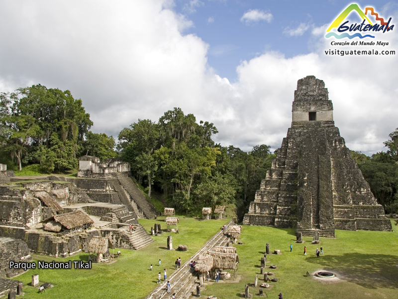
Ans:
{"label": "colourful Guatemala logo with yellow-green mountain and blue waves", "polygon": [[[363,19],[361,23],[350,23],[350,20],[347,19],[348,14],[351,11],[356,11],[359,16]],[[376,21],[372,23],[372,21],[368,18],[367,14],[369,13],[369,17],[371,15],[374,16]],[[380,23],[379,23],[380,22]],[[365,12],[359,8],[358,4],[350,4],[340,15],[333,21],[330,27],[326,30],[326,32],[331,31],[334,28],[337,28],[337,32],[329,32],[326,34],[326,38],[335,37],[337,39],[348,37],[352,39],[354,37],[359,38],[375,38],[373,34],[377,32],[386,33],[390,30],[393,30],[394,25],[391,23],[391,17],[388,21],[385,21],[384,18],[380,17],[379,14],[373,9],[373,7],[366,7]]]}

